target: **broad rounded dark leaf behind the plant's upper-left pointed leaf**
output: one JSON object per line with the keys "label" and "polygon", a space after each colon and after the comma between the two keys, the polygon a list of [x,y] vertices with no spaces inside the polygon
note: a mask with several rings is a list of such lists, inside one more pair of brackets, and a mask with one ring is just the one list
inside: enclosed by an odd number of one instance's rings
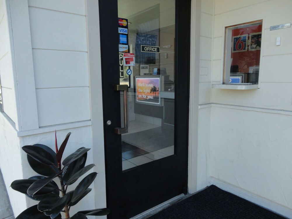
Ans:
{"label": "broad rounded dark leaf behind the plant's upper-left pointed leaf", "polygon": [[[57,159],[55,159],[56,157],[56,153],[51,149],[49,148],[48,146],[46,145],[42,145],[42,144],[35,144],[34,146],[37,146],[37,147],[41,147],[43,149],[45,149],[46,151],[48,151],[54,158],[54,164],[55,166],[57,166]],[[27,154],[27,161],[29,163],[29,165],[31,166],[31,168],[36,171],[36,173],[39,173],[41,175],[44,175],[44,176],[53,176],[55,175],[56,173],[58,173],[58,168],[53,166],[53,165],[46,165],[46,164],[42,164],[41,162],[35,160],[34,158],[32,158],[31,156],[29,156]]]}

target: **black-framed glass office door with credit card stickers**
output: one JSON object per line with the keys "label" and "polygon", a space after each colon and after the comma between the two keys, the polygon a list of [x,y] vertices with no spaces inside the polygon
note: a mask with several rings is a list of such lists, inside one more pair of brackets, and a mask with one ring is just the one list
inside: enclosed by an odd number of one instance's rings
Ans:
{"label": "black-framed glass office door with credit card stickers", "polygon": [[108,218],[126,219],[187,192],[190,1],[99,3]]}

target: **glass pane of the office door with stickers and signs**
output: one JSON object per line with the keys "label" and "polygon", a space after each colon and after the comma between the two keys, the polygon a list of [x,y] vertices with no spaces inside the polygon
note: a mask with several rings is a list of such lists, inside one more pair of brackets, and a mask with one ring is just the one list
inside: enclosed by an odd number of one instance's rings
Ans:
{"label": "glass pane of the office door with stickers and signs", "polygon": [[[175,151],[175,0],[118,0],[118,17],[120,84],[129,86],[128,133],[121,137],[126,170]],[[121,93],[122,127],[123,113]]]}

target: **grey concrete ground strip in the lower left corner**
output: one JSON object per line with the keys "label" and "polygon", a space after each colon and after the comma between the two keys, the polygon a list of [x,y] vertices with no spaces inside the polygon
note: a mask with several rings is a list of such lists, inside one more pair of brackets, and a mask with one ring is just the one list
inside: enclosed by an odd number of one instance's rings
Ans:
{"label": "grey concrete ground strip in the lower left corner", "polygon": [[0,219],[14,219],[9,197],[0,170]]}

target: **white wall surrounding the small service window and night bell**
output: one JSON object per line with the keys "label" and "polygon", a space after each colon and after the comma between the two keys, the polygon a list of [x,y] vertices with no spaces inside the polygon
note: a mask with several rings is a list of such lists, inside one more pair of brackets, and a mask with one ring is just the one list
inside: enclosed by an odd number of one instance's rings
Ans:
{"label": "white wall surrounding the small service window and night bell", "polygon": [[[244,198],[288,217],[292,217],[292,28],[270,31],[270,26],[290,23],[291,7],[289,0],[215,0],[212,82],[220,83],[223,73],[225,25],[263,19],[263,56],[259,89],[212,89],[210,147],[211,183],[228,185],[224,188],[241,191]],[[276,37],[281,37],[280,46]]]}

